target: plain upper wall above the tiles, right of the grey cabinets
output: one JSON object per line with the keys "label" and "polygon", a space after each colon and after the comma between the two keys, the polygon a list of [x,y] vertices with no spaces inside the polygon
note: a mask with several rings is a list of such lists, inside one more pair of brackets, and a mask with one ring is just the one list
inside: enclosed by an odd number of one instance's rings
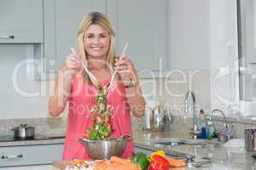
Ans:
{"label": "plain upper wall above the tiles, right of the grey cabinets", "polygon": [[[210,20],[210,12],[212,12],[210,3],[212,2],[215,1],[169,1],[170,48],[168,50],[169,65],[172,69],[207,70],[210,68],[211,39],[209,35],[212,31],[210,30],[210,21],[212,21]],[[212,17],[214,16],[216,15]],[[218,21],[222,22],[222,20]],[[216,26],[219,25],[218,23]],[[215,37],[218,36],[215,35]]]}

